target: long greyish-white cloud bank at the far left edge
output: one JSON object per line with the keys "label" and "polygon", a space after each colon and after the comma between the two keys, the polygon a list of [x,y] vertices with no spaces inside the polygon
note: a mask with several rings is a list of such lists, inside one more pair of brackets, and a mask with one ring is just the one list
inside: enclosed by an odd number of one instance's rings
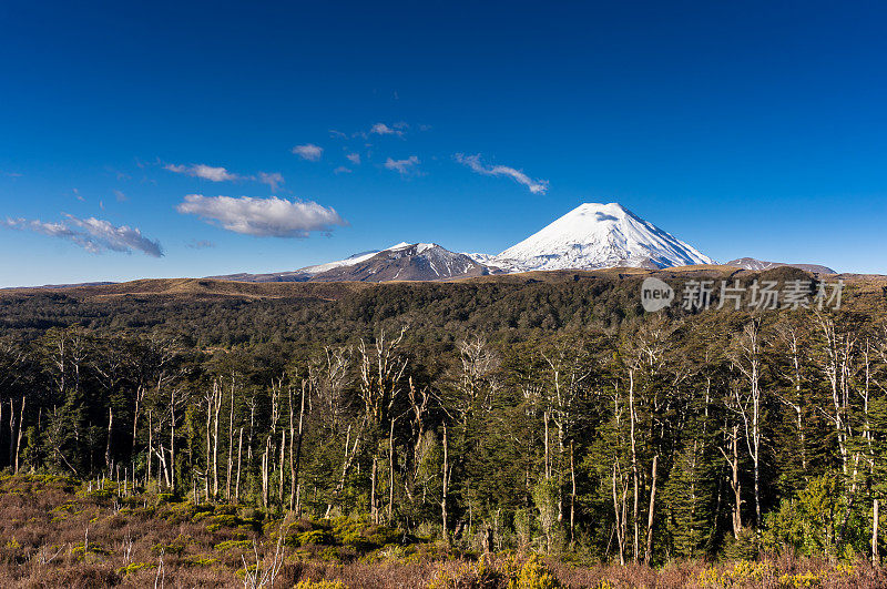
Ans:
{"label": "long greyish-white cloud bank at the far left edge", "polygon": [[116,226],[109,221],[95,217],[78,219],[73,215],[65,215],[65,217],[67,221],[61,223],[7,219],[0,221],[0,224],[9,229],[33,231],[50,237],[68,240],[93,254],[105,251],[126,253],[139,251],[153,257],[163,256],[160,242],[149,240],[135,227]]}

